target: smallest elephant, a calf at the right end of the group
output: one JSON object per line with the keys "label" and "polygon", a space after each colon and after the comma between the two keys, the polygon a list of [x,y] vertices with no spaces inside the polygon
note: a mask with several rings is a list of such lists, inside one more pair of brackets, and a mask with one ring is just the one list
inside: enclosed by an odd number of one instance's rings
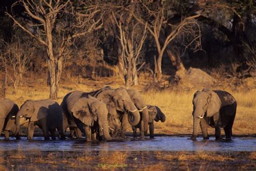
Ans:
{"label": "smallest elephant, a calf at the right end of the group", "polygon": [[[165,114],[157,106],[147,106],[149,111],[149,129],[150,129],[150,138],[154,138],[154,121],[165,122]],[[132,127],[133,137],[137,137],[137,128],[140,128],[140,122],[138,125]]]}

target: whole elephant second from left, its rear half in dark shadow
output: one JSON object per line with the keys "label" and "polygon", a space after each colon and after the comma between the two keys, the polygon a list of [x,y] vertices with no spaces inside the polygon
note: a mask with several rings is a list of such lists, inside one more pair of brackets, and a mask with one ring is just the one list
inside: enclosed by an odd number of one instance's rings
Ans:
{"label": "whole elephant second from left, its rear half in dark shadow", "polygon": [[62,109],[56,101],[51,99],[45,100],[26,100],[21,106],[16,117],[16,133],[19,132],[20,118],[24,117],[29,120],[27,139],[33,138],[35,126],[42,129],[44,139],[49,140],[49,131],[52,140],[55,140],[55,130],[57,128],[61,139],[65,139],[63,133],[63,113]]}

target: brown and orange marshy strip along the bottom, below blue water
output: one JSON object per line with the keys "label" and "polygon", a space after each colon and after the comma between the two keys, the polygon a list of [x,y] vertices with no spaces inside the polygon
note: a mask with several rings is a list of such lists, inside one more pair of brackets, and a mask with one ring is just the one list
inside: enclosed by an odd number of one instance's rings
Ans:
{"label": "brown and orange marshy strip along the bottom, below blue water", "polygon": [[255,152],[2,151],[0,170],[255,170]]}

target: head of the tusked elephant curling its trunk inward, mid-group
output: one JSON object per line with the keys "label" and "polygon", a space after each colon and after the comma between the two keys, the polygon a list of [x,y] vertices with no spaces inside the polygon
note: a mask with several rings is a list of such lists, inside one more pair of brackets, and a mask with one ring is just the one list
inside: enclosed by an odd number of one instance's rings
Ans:
{"label": "head of the tusked elephant curling its trunk inward, mid-group", "polygon": [[[132,126],[139,123],[139,111],[124,88],[104,90],[97,95],[97,99],[103,100],[108,108],[128,113],[128,121]],[[114,110],[113,113],[111,111],[109,113],[116,114]]]}

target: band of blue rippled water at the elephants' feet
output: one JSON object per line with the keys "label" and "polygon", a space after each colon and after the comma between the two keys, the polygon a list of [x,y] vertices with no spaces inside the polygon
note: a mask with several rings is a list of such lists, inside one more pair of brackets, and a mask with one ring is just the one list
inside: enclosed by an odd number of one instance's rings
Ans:
{"label": "band of blue rippled water at the elephants' feet", "polygon": [[[161,136],[140,141],[86,142],[80,140],[44,141],[35,137],[33,140],[22,138],[21,141],[0,139],[1,151],[256,151],[256,138],[233,138],[231,142],[217,142],[214,138],[207,141],[191,141],[187,137]],[[1,153],[0,153],[1,154]]]}

